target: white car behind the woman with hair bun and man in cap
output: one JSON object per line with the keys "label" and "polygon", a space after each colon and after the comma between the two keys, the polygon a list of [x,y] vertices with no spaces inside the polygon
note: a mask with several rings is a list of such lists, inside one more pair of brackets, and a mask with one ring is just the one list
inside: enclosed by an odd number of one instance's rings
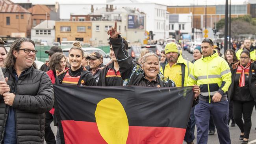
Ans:
{"label": "white car behind the woman with hair bun and man in cap", "polygon": [[[63,54],[66,55],[66,57],[69,57],[69,50],[70,50],[70,48],[65,48],[62,50]],[[98,52],[98,53],[102,54],[104,65],[108,64],[110,61],[110,56],[107,55],[103,50],[101,50],[99,48],[87,47],[87,48],[82,48],[82,50],[83,50],[83,52],[87,52],[89,54],[91,54],[93,52]]]}

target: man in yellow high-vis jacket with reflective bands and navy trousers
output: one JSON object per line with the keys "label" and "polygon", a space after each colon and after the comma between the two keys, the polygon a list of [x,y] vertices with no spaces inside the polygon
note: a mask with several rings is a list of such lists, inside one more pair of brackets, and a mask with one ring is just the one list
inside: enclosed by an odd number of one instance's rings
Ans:
{"label": "man in yellow high-vis jacket with reflective bands and navy trousers", "polygon": [[203,57],[195,61],[188,85],[199,85],[199,103],[195,106],[197,144],[207,144],[210,115],[213,116],[220,144],[231,144],[228,128],[228,99],[226,91],[231,84],[228,63],[213,49],[213,41],[204,39]]}

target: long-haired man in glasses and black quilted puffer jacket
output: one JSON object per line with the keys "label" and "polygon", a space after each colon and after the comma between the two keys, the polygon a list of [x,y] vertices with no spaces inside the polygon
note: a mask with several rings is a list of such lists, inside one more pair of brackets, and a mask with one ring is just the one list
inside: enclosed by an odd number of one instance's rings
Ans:
{"label": "long-haired man in glasses and black quilted puffer jacket", "polygon": [[50,78],[37,70],[35,43],[20,38],[11,44],[0,81],[0,144],[43,144],[45,112],[54,104]]}

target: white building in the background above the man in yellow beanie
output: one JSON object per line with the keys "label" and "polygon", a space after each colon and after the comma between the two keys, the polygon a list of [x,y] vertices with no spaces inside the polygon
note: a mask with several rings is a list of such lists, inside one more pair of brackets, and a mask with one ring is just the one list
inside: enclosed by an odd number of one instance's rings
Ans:
{"label": "white building in the background above the man in yellow beanie", "polygon": [[176,35],[192,33],[192,13],[189,14],[169,14],[169,36],[175,38]]}

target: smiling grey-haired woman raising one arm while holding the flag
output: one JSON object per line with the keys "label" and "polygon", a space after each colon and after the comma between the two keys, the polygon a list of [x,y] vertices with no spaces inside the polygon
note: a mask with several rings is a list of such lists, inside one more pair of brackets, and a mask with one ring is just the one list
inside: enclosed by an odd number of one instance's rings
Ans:
{"label": "smiling grey-haired woman raising one arm while holding the flag", "polygon": [[[117,22],[115,27],[108,31],[110,35],[109,41],[115,52],[121,77],[124,79],[123,85],[137,85],[142,87],[176,87],[174,81],[165,78],[159,72],[159,58],[154,53],[148,53],[141,57],[141,66],[133,63],[132,58],[128,55],[125,45],[121,37],[121,33],[117,31]],[[195,98],[200,93],[199,87],[194,85],[193,91]]]}

